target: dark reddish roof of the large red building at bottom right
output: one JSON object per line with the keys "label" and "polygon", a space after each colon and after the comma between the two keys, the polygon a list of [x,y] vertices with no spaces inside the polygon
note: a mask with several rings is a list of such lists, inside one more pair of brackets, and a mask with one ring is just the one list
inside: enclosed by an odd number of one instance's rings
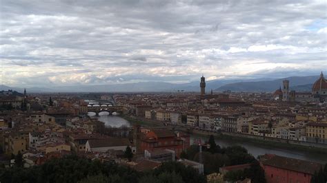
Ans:
{"label": "dark reddish roof of the large red building at bottom right", "polygon": [[290,171],[308,173],[310,175],[313,175],[315,171],[319,171],[322,166],[322,164],[315,162],[308,162],[294,158],[286,158],[273,154],[262,155],[259,160],[264,165],[275,166],[277,168],[286,169]]}

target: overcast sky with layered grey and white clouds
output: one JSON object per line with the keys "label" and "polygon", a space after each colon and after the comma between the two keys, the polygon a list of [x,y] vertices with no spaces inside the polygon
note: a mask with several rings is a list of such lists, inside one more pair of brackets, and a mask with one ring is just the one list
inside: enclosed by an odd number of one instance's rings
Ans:
{"label": "overcast sky with layered grey and white clouds", "polygon": [[326,72],[326,1],[0,2],[1,84],[99,85]]}

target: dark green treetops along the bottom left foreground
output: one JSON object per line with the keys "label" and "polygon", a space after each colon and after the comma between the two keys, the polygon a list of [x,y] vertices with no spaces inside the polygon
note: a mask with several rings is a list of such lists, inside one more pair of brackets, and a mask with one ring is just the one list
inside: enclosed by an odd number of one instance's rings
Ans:
{"label": "dark green treetops along the bottom left foreground", "polygon": [[0,182],[206,182],[204,175],[178,162],[165,162],[145,173],[115,162],[91,161],[77,155],[51,159],[40,166],[0,166]]}

